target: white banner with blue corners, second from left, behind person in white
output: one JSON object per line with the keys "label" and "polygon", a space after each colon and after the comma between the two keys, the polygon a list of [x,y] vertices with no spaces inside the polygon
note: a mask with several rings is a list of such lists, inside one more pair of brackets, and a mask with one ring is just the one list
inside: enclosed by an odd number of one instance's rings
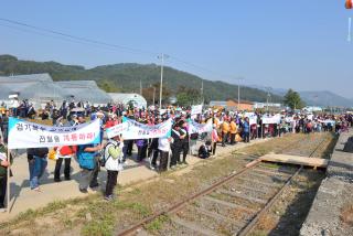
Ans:
{"label": "white banner with blue corners, second from left, behind person in white", "polygon": [[108,138],[121,135],[122,139],[153,139],[170,137],[172,119],[156,126],[147,126],[129,118],[124,118],[122,124],[107,129]]}

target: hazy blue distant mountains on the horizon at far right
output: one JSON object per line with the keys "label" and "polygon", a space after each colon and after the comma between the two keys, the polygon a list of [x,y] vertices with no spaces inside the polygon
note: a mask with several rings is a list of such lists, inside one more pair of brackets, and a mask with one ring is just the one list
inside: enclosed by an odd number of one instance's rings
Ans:
{"label": "hazy blue distant mountains on the horizon at far right", "polygon": [[[250,87],[258,89],[266,89],[264,86],[252,85]],[[285,96],[288,89],[285,88],[272,88],[271,93]],[[340,107],[353,107],[353,99],[349,99],[336,95],[329,90],[312,90],[312,92],[298,92],[300,97],[306,101],[309,106],[340,106]]]}

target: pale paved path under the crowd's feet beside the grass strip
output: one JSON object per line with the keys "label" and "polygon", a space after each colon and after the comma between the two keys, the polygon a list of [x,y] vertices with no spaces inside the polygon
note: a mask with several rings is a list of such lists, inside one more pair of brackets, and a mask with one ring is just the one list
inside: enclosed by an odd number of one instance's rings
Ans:
{"label": "pale paved path under the crowd's feet beside the grass strip", "polygon": [[[265,140],[252,141],[249,144],[263,142]],[[248,146],[248,143],[237,143],[236,146],[228,146],[225,148],[217,147],[216,158],[246,146]],[[188,169],[190,170],[192,165],[200,161],[202,161],[202,159],[189,155],[189,168],[182,170],[188,171]],[[78,191],[79,167],[75,160],[72,160],[71,181],[62,181],[60,183],[54,182],[54,167],[55,161],[49,160],[49,165],[44,176],[40,180],[41,192],[31,191],[29,187],[29,168],[26,155],[25,153],[17,155],[12,165],[13,178],[11,178],[11,212],[10,214],[0,213],[0,222],[8,219],[9,217],[13,217],[29,208],[45,206],[53,201],[67,200],[85,195]],[[133,160],[128,160],[126,169],[119,173],[118,183],[120,185],[127,185],[136,182],[142,182],[158,175],[159,174],[156,171],[149,169],[148,161],[143,163],[137,163]],[[105,187],[105,180],[106,171],[101,169],[99,172],[99,183],[100,187],[103,189]],[[99,191],[99,189],[97,191]],[[94,193],[94,191],[89,191],[89,193]]]}

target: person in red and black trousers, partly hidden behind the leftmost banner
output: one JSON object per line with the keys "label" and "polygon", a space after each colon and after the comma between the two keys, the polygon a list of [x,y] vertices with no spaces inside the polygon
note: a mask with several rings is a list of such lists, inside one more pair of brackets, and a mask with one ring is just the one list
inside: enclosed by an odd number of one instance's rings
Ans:
{"label": "person in red and black trousers, partly hidden behind the leftmost banner", "polygon": [[74,157],[74,154],[77,151],[76,146],[63,146],[55,148],[57,160],[55,163],[55,170],[54,170],[54,181],[61,182],[60,179],[60,170],[62,168],[63,160],[65,160],[65,168],[64,168],[64,175],[65,180],[71,180],[69,176],[69,169],[71,169],[71,158]]}

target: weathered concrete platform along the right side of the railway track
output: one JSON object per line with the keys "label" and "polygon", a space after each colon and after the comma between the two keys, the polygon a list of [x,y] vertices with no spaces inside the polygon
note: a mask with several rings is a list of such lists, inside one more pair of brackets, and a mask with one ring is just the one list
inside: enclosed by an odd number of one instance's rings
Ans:
{"label": "weathered concrete platform along the right side of the railway track", "polygon": [[[340,136],[301,236],[353,235],[353,227],[342,222],[342,213],[353,204],[353,153],[343,152],[353,129]],[[350,213],[352,217],[353,213]],[[352,218],[351,218],[352,221]],[[352,223],[351,223],[352,224]]]}

